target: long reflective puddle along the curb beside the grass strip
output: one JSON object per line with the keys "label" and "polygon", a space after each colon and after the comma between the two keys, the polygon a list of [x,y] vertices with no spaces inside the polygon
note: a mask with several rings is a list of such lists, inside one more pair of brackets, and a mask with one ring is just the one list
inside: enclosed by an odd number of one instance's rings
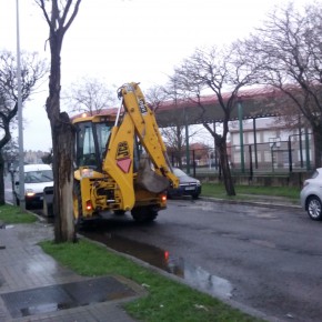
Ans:
{"label": "long reflective puddle along the curb beside the grass strip", "polygon": [[223,299],[231,298],[232,285],[228,280],[215,276],[182,258],[174,258],[168,251],[120,235],[98,232],[81,232],[84,237],[99,241],[109,248],[138,258],[153,266],[185,280],[190,285]]}

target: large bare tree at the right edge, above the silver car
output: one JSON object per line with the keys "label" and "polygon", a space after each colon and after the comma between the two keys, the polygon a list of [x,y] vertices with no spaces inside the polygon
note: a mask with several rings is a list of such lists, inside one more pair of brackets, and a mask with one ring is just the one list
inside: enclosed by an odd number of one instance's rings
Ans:
{"label": "large bare tree at the right edge, above the silver car", "polygon": [[308,120],[316,168],[322,165],[321,31],[318,2],[302,10],[290,3],[270,13],[263,27],[244,41],[244,57],[258,66],[258,82],[271,84],[289,98],[282,110],[285,121],[298,122],[301,115]]}

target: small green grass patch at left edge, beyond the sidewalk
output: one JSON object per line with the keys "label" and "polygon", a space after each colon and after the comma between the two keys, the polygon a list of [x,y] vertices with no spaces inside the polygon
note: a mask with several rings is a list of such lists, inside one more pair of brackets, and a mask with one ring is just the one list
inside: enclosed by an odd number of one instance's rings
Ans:
{"label": "small green grass patch at left edge, beyond the sidewalk", "polygon": [[14,223],[33,223],[38,220],[38,218],[28,212],[21,211],[19,207],[4,204],[0,205],[0,221],[6,224],[14,224]]}

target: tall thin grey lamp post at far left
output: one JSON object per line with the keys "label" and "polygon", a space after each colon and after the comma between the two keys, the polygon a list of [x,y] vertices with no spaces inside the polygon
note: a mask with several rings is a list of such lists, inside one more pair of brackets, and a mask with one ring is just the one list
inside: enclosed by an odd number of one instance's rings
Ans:
{"label": "tall thin grey lamp post at far left", "polygon": [[21,98],[21,66],[20,66],[20,33],[19,33],[19,0],[17,7],[17,84],[18,84],[18,134],[19,134],[19,194],[20,209],[26,210],[24,201],[24,154],[23,154],[23,131],[22,131],[22,98]]}

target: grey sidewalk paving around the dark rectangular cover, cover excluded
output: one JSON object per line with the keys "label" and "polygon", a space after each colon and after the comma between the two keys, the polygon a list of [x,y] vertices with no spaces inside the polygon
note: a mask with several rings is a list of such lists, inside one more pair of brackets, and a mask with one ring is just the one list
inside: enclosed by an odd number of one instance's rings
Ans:
{"label": "grey sidewalk paving around the dark rectangular cover, cover excluded", "polygon": [[7,228],[0,229],[0,245],[6,246],[0,249],[0,322],[134,321],[121,308],[124,299],[12,319],[1,294],[84,281],[89,278],[80,276],[59,265],[51,256],[42,252],[38,242],[53,239],[51,225],[38,222]]}

